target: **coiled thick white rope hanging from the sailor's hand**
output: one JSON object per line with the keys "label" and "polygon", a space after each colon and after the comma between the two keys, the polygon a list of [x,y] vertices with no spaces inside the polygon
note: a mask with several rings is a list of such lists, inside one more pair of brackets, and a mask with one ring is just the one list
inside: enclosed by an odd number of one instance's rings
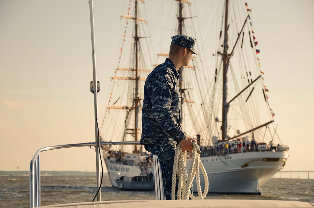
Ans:
{"label": "coiled thick white rope hanging from the sailor's hand", "polygon": [[[176,146],[176,153],[172,170],[172,189],[171,200],[188,200],[191,199],[203,200],[208,193],[208,177],[201,162],[201,151],[195,142],[193,144],[192,160],[189,173],[187,174],[187,152],[183,152],[180,145]],[[204,192],[202,194],[201,183],[199,178],[199,167],[201,168],[205,180]],[[176,176],[178,178],[178,190],[176,194]],[[198,190],[198,197],[194,196],[190,189],[192,182],[196,176],[196,185]]]}

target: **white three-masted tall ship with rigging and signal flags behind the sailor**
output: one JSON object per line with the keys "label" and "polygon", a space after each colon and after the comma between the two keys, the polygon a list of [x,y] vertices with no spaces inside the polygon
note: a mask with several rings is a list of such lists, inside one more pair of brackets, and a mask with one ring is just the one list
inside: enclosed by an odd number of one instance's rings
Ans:
{"label": "white three-masted tall ship with rigging and signal flags behind the sailor", "polygon": [[[164,26],[160,39],[177,34],[197,38],[196,49],[200,56],[193,57],[191,65],[180,69],[181,124],[187,135],[197,138],[201,147],[209,192],[261,194],[261,186],[284,167],[289,148],[281,143],[273,123],[274,113],[269,106],[268,90],[257,56],[259,51],[252,29],[251,9],[243,1],[211,1],[208,8],[215,9],[211,13],[207,11],[202,20],[212,19],[216,24],[201,21],[200,26],[195,28],[193,19],[197,19],[197,15],[187,14],[192,10],[192,3],[186,0],[173,0],[171,3],[178,8],[176,30],[175,33],[171,30],[169,34],[170,29]],[[145,56],[151,60],[148,55],[151,50],[148,47],[145,51],[143,47],[143,39],[149,35],[139,30],[139,23],[144,26],[145,20],[138,16],[138,1],[134,1],[134,8],[134,16],[122,16],[135,23],[132,27],[134,57],[128,63],[128,68],[118,66],[115,76],[111,78],[111,98],[101,128],[103,141],[138,141],[140,138],[143,85],[153,67],[145,65],[144,61]],[[239,10],[243,12],[236,14]],[[173,9],[170,12],[173,13]],[[130,27],[128,25],[127,22],[120,57],[127,28]],[[205,30],[205,37],[195,32],[199,28]],[[192,31],[188,31],[190,29]],[[204,31],[199,33],[203,35]],[[208,38],[208,35],[211,37]],[[146,40],[146,43],[149,41]],[[163,58],[160,63],[167,56],[167,53],[159,53],[159,59]],[[120,57],[119,64],[122,63]],[[119,92],[124,92],[126,98],[115,91],[118,87],[122,88]],[[124,111],[123,115],[121,111]],[[122,127],[116,132],[111,130],[116,129],[122,118]],[[143,147],[136,145],[129,150],[104,150],[112,186],[117,187],[114,179],[118,176],[154,172],[151,156],[143,151]],[[203,177],[200,178],[204,186]],[[194,182],[193,187],[196,191]]]}

